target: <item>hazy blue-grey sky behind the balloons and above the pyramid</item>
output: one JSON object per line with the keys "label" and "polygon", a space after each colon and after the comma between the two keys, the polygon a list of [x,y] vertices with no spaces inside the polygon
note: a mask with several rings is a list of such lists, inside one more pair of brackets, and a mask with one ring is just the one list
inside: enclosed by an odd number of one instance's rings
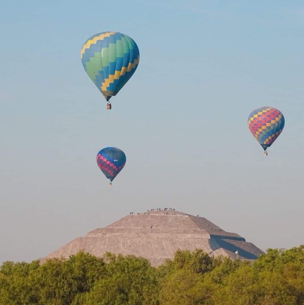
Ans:
{"label": "hazy blue-grey sky behind the balloons and above the pyramid", "polygon": [[[262,250],[304,243],[303,1],[0,2],[0,263],[164,206]],[[80,60],[102,31],[141,56],[110,111]],[[259,106],[285,117],[268,157]],[[112,188],[107,146],[127,156]]]}

